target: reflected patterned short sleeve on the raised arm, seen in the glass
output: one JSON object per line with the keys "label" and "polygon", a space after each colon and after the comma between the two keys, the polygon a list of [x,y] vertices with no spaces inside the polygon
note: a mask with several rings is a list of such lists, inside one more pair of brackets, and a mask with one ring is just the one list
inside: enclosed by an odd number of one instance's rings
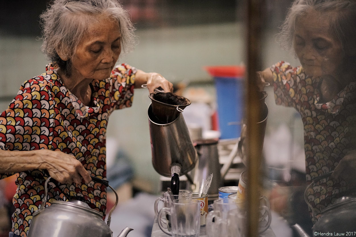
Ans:
{"label": "reflected patterned short sleeve on the raised arm, seen in the glass", "polygon": [[271,70],[276,104],[296,107],[302,96],[300,86],[305,80],[302,67],[292,67],[289,63],[281,61],[272,65]]}

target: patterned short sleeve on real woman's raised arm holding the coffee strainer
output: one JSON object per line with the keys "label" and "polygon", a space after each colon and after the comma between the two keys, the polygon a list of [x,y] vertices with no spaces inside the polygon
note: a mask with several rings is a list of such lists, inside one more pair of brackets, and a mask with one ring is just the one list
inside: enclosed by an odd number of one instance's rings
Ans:
{"label": "patterned short sleeve on real woman's raised arm holding the coffee strainer", "polygon": [[112,70],[110,94],[115,109],[123,109],[132,105],[136,72],[136,68],[126,63],[117,65]]}

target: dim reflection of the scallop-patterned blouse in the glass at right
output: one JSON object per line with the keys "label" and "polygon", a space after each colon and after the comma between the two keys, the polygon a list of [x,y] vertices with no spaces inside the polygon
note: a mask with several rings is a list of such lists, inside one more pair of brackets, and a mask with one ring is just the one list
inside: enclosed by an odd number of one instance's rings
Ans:
{"label": "dim reflection of the scallop-patterned blouse in the glass at right", "polygon": [[[271,67],[276,104],[292,106],[302,115],[307,184],[336,167],[341,158],[356,149],[356,82],[347,85],[334,99],[319,103],[318,80],[308,77],[302,67],[279,62]],[[308,192],[313,221],[338,197],[345,195],[344,180],[331,178],[316,182]]]}

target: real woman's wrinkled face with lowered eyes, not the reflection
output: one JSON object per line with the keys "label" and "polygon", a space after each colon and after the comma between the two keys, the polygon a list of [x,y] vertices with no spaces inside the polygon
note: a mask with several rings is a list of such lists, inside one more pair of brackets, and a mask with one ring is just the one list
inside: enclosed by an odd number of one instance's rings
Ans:
{"label": "real woman's wrinkled face with lowered eyes, not the reflection", "polygon": [[119,25],[107,17],[89,26],[72,58],[72,78],[103,80],[110,77],[121,53]]}

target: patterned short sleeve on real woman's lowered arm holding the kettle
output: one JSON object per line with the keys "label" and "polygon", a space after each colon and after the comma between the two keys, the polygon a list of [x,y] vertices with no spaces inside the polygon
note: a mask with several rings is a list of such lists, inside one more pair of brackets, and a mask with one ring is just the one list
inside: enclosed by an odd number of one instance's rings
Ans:
{"label": "patterned short sleeve on real woman's lowered arm holding the kettle", "polygon": [[[26,81],[0,115],[0,149],[51,149],[54,117],[54,104],[46,87],[34,79]],[[0,178],[12,174],[0,174]]]}

